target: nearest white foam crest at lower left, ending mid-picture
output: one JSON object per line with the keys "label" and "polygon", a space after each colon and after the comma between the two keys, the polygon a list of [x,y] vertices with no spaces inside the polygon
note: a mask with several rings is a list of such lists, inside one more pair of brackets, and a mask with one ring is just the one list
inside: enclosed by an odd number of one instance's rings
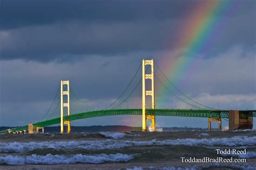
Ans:
{"label": "nearest white foam crest at lower left, ending mid-picture", "polygon": [[8,155],[0,157],[0,164],[8,165],[22,165],[22,164],[76,164],[76,163],[90,163],[100,164],[102,162],[120,162],[129,161],[134,158],[134,155],[127,155],[122,153],[117,154],[98,154],[98,155],[36,155],[29,156]]}

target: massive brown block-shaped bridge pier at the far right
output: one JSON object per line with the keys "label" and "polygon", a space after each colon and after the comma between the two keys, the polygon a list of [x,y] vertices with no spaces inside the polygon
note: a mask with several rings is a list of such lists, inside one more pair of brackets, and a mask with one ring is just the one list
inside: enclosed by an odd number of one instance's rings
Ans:
{"label": "massive brown block-shaped bridge pier at the far right", "polygon": [[228,112],[228,129],[252,129],[253,127],[253,114],[252,112],[242,112],[239,110],[230,110]]}

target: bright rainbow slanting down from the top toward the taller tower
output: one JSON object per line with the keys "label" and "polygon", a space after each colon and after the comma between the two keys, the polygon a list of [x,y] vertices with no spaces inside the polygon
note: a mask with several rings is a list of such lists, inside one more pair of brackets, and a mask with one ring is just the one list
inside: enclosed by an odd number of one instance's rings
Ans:
{"label": "bright rainbow slanting down from the top toward the taller tower", "polygon": [[[225,25],[225,14],[230,11],[231,3],[237,1],[201,1],[183,25],[183,29],[179,32],[179,40],[173,49],[178,49],[177,57],[164,56],[163,60],[158,64],[164,73],[176,86],[181,87],[182,80],[188,80],[191,74],[191,68],[196,67],[198,63],[198,55],[200,52],[207,52],[210,49],[208,43],[213,47],[218,37],[220,27]],[[164,96],[165,88],[156,88],[157,96]],[[166,96],[167,97],[167,96]],[[167,101],[167,100],[163,100]],[[163,107],[163,105],[158,107]]]}

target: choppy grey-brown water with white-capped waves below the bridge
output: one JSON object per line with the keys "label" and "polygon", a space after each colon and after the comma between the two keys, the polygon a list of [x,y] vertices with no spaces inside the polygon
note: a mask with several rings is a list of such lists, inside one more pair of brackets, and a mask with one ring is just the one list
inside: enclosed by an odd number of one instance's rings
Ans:
{"label": "choppy grey-brown water with white-capped waves below the bridge", "polygon": [[[236,148],[246,154],[217,155]],[[181,157],[246,158],[185,163]],[[0,169],[256,169],[256,131],[0,134]]]}

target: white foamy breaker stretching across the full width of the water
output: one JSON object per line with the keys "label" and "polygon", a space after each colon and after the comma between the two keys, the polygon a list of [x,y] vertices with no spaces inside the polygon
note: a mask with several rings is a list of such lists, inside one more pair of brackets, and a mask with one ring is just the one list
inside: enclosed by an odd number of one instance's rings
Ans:
{"label": "white foamy breaker stretching across the full width of the water", "polygon": [[45,142],[30,142],[30,143],[0,143],[0,152],[26,152],[35,150],[36,148],[53,148],[53,149],[85,149],[85,150],[104,150],[116,149],[129,146],[255,146],[256,136],[235,136],[232,138],[211,138],[211,139],[175,139],[175,140],[149,140],[149,141],[131,141],[131,140],[82,140],[82,141],[45,141]]}

